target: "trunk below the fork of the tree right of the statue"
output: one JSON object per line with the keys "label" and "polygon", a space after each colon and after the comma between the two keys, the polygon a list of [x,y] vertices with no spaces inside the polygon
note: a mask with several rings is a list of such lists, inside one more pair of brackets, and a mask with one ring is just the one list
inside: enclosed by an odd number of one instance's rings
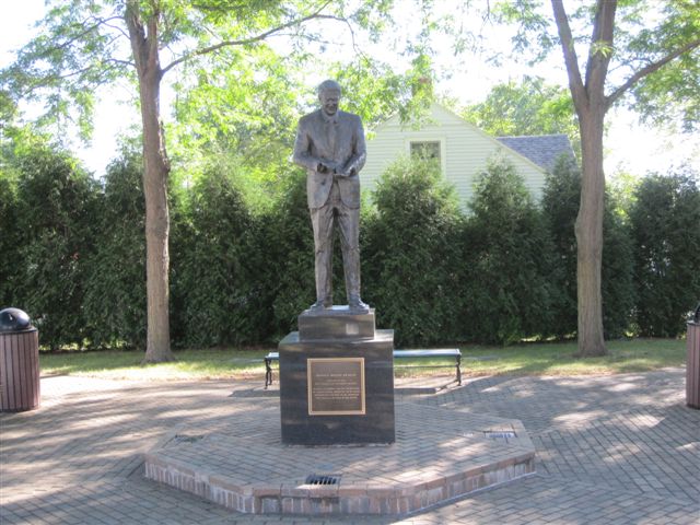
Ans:
{"label": "trunk below the fork of the tree right of the statue", "polygon": [[605,355],[603,335],[603,211],[605,175],[603,172],[603,121],[605,109],[592,104],[580,114],[582,177],[581,206],[576,217],[579,355]]}

